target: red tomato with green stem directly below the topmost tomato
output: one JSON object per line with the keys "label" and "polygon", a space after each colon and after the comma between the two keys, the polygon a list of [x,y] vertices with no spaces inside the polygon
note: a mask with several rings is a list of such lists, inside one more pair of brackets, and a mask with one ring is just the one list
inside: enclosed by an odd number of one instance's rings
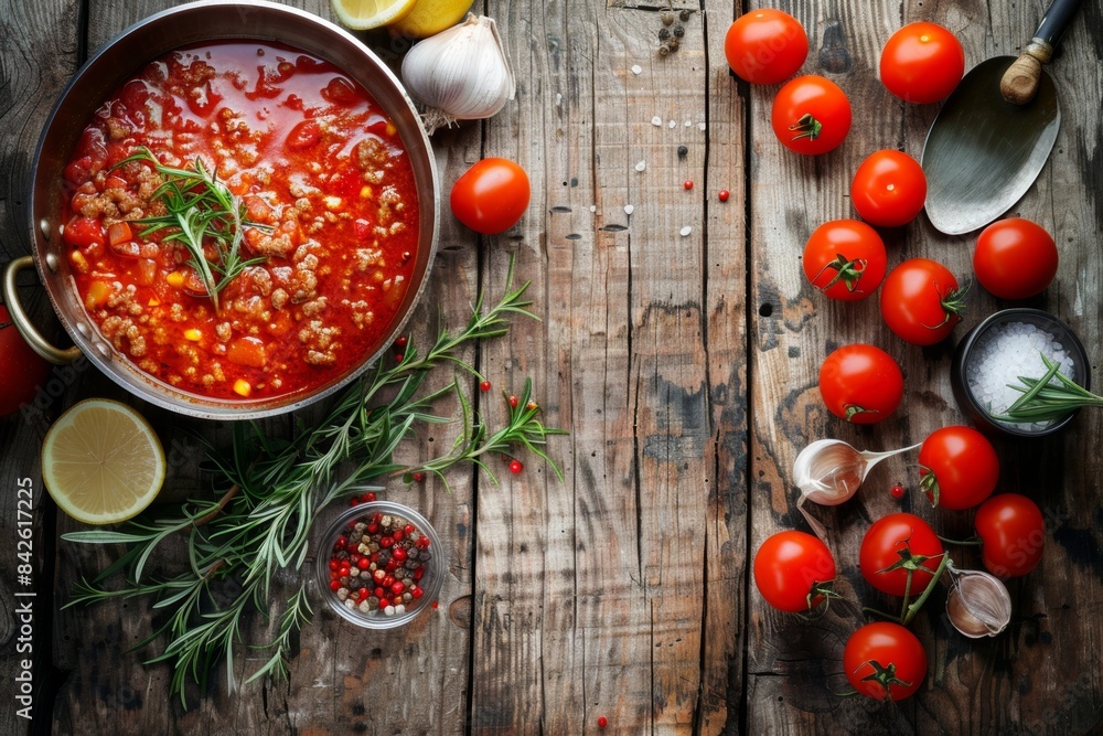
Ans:
{"label": "red tomato with green stem directly below the topmost tomato", "polygon": [[778,140],[791,151],[826,153],[850,130],[850,102],[831,79],[799,76],[778,90],[771,122]]}

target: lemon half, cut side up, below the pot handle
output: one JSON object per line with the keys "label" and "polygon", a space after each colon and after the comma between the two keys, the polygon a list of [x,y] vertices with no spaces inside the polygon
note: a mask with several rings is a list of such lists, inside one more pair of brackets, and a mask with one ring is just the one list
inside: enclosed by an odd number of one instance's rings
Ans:
{"label": "lemon half, cut side up, below the pot handle", "polygon": [[42,480],[73,519],[114,524],[136,516],[157,498],[164,482],[164,450],[138,412],[88,398],[46,431]]}

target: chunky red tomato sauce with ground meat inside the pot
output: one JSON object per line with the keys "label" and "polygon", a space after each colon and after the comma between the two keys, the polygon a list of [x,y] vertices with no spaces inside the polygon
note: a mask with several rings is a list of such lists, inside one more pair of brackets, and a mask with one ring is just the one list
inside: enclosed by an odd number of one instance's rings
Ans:
{"label": "chunky red tomato sauce with ground meat inside the pot", "polygon": [[[167,212],[164,167],[196,159],[238,198],[240,256],[217,289]],[[69,263],[104,338],[149,375],[214,398],[309,392],[361,364],[392,324],[418,242],[414,173],[394,124],[333,65],[268,43],[174,51],[93,116],[66,169]],[[206,238],[207,263],[218,247]]]}

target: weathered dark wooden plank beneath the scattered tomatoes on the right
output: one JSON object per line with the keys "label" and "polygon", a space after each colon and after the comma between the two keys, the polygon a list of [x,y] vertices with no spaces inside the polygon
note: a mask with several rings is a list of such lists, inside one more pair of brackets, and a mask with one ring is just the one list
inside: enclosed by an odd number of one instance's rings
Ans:
{"label": "weathered dark wooden plank beneath the scattered tomatoes on the right", "polygon": [[[853,216],[846,203],[849,175],[877,148],[901,148],[919,157],[925,131],[938,106],[912,107],[896,102],[877,81],[881,44],[904,22],[932,20],[962,39],[967,66],[996,54],[1015,54],[1040,19],[1043,3],[1006,6],[971,3],[934,6],[906,3],[842,8],[812,3],[796,12],[815,36],[806,72],[829,72],[850,96],[855,127],[842,149],[817,160],[795,160],[769,134],[756,138],[761,151],[751,190],[752,280],[759,318],[752,322],[758,350],[752,354],[753,437],[751,477],[751,547],[770,533],[804,527],[794,512],[792,461],[808,441],[839,437],[858,447],[890,449],[921,440],[942,425],[964,417],[949,388],[953,340],[929,349],[907,345],[881,323],[875,299],[858,305],[831,303],[814,294],[800,270],[799,254],[820,222]],[[802,12],[803,11],[803,12]],[[1090,13],[1094,11],[1089,11]],[[828,31],[842,21],[842,35]],[[1097,13],[1095,13],[1097,15]],[[1097,222],[1097,186],[1084,186],[1092,174],[1089,142],[1099,126],[1097,85],[1078,82],[1074,70],[1097,68],[1085,58],[1091,47],[1091,18],[1070,32],[1063,58],[1051,68],[1062,94],[1067,122],[1054,153],[1038,184],[1015,207],[1054,233],[1061,247],[1061,268],[1053,286],[1030,306],[1058,313],[1089,343],[1097,342],[1099,305],[1084,297],[1097,292],[1097,253],[1080,245],[1086,223]],[[1095,26],[1097,29],[1097,25]],[[813,31],[814,29],[814,31]],[[836,54],[845,50],[849,66],[825,68],[823,49],[834,40]],[[1096,40],[1097,43],[1097,40]],[[820,57],[817,58],[817,53]],[[1094,64],[1094,67],[1092,66]],[[769,126],[772,89],[754,89],[752,129]],[[1058,195],[1057,192],[1063,192]],[[799,203],[799,204],[794,204]],[[804,212],[801,212],[804,211]],[[947,237],[936,233],[923,215],[898,232],[886,234],[890,267],[908,257],[927,256],[945,263],[962,278],[972,277],[971,254],[976,234]],[[786,244],[778,247],[779,239]],[[1073,242],[1075,241],[1075,243]],[[999,302],[974,287],[960,339]],[[820,402],[816,375],[820,362],[838,344],[872,342],[889,350],[906,376],[906,397],[898,416],[874,428],[858,429],[829,416]],[[1062,438],[1037,445],[997,442],[1003,463],[998,490],[1032,495],[1048,515],[1048,548],[1042,568],[1008,584],[1015,598],[1010,629],[993,641],[975,642],[957,634],[941,616],[943,597],[936,594],[917,619],[913,630],[924,642],[930,668],[915,698],[898,707],[877,707],[834,693],[846,685],[839,669],[842,647],[861,617],[847,607],[833,609],[814,625],[770,610],[751,591],[748,650],[749,733],[856,733],[860,730],[1039,732],[1081,733],[1097,724],[1101,704],[1092,694],[1094,675],[1086,659],[1097,658],[1100,625],[1070,610],[1100,608],[1100,538],[1091,531],[1093,506],[1088,501],[1096,460],[1085,442],[1097,434],[1096,417],[1084,416]],[[1085,458],[1084,461],[1072,458]],[[831,527],[828,543],[839,564],[843,591],[865,604],[887,608],[893,601],[876,595],[857,572],[857,548],[868,523],[899,504],[886,492],[897,478],[912,488],[914,460],[892,461],[875,470],[855,500],[834,510],[817,511]],[[968,515],[932,512],[919,497],[906,502],[951,537],[967,536]],[[965,566],[979,566],[975,551],[952,548]],[[1074,562],[1074,559],[1079,562]],[[1090,562],[1090,561],[1095,561]],[[1094,567],[1094,569],[1093,569]],[[1057,583],[1060,580],[1060,583]],[[1060,593],[1059,593],[1060,591]],[[1073,620],[1075,619],[1075,620]],[[780,675],[780,676],[779,676]]]}

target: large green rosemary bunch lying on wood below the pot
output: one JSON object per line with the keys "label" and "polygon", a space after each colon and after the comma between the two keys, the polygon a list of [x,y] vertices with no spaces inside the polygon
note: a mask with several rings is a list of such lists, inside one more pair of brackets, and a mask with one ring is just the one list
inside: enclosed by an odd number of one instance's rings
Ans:
{"label": "large green rosemary bunch lying on wood below the pot", "polygon": [[[266,437],[255,424],[236,425],[231,450],[218,454],[212,449],[208,454],[221,477],[219,486],[233,486],[236,491],[232,488],[221,499],[188,501],[174,513],[152,522],[131,523],[125,531],[65,534],[63,538],[69,542],[127,545],[126,553],[95,579],[76,584],[66,607],[113,598],[153,598],[154,611],[167,618],[135,648],[162,636],[168,638],[161,654],[149,661],[172,662],[170,690],[186,707],[188,682],[205,687],[207,673],[221,660],[225,661],[228,686],[236,687],[234,650],[240,640],[243,620],[254,610],[267,617],[274,607],[272,578],[280,570],[302,566],[317,512],[373,479],[417,470],[397,465],[394,450],[418,424],[449,420],[431,408],[442,396],[453,392],[459,396],[462,436],[447,457],[430,460],[421,469],[443,478],[445,471],[457,463],[485,468],[480,458],[514,451],[520,446],[544,458],[563,478],[545,447],[549,435],[565,433],[539,422],[539,408],[531,398],[528,382],[507,425],[493,433],[473,418],[456,381],[424,396],[419,394],[429,371],[446,363],[481,378],[457,351],[473,340],[505,334],[513,316],[536,319],[527,309],[531,302],[523,300],[527,286],[513,287],[511,265],[501,301],[483,312],[480,296],[465,328],[454,334],[442,330],[424,355],[409,341],[401,362],[378,364],[343,394],[323,423],[302,429],[293,441]],[[144,579],[151,555],[170,540],[180,543],[181,537],[186,545],[186,569]],[[120,570],[127,572],[128,585],[106,587],[108,578]],[[278,632],[272,641],[263,644],[271,655],[246,682],[260,678],[287,680],[292,636],[311,615],[306,595],[300,586],[283,606]]]}

